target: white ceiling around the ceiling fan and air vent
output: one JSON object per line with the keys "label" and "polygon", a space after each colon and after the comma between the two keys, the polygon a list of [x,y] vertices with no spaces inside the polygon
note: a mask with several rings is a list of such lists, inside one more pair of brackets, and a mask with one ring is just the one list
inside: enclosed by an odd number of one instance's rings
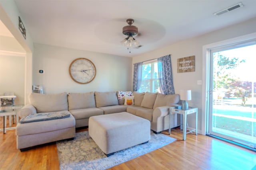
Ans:
{"label": "white ceiling around the ceiling fan and air vent", "polygon": [[[256,0],[15,0],[35,43],[133,57],[256,17]],[[238,2],[244,7],[213,13]],[[120,44],[134,19],[142,47]]]}

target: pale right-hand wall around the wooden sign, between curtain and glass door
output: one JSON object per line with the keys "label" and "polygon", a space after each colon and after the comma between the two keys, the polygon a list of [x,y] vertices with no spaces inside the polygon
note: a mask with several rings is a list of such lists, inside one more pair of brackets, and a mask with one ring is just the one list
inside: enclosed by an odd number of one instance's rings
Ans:
{"label": "pale right-hand wall around the wooden sign, between curtain and glass door", "polygon": [[[248,33],[253,33],[256,31],[256,18],[253,18],[230,27],[226,27],[205,35],[194,37],[191,39],[186,39],[178,43],[145,53],[143,55],[138,55],[133,57],[132,63],[138,63],[142,61],[147,61],[149,59],[155,59],[162,57],[164,55],[171,55],[172,61],[172,71],[174,80],[174,89],[176,94],[180,94],[181,89],[192,90],[192,100],[188,101],[188,105],[192,107],[198,107],[198,129],[202,129],[202,85],[197,85],[197,80],[203,80],[202,77],[202,47],[210,43],[217,41],[222,41],[225,39],[230,39],[233,37],[238,37],[241,35],[246,35]],[[195,72],[185,72],[177,73],[177,59],[182,57],[189,57],[195,55]],[[204,56],[205,57],[205,56]],[[194,115],[189,115],[188,125],[190,127],[195,127],[195,117]]]}

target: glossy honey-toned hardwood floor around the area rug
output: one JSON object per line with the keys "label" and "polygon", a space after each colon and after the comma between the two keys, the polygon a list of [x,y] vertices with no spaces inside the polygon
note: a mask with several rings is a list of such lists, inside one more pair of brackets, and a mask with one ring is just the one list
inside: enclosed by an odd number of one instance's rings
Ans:
{"label": "glossy honey-toned hardwood floor around the area rug", "polygon": [[[2,120],[0,120],[2,128]],[[77,132],[88,128],[77,129]],[[162,132],[168,135],[168,131]],[[204,135],[172,129],[177,141],[148,154],[110,168],[110,170],[251,170],[256,169],[256,152]],[[86,169],[86,167],[85,167]],[[55,143],[20,152],[15,130],[0,132],[0,170],[59,170]]]}

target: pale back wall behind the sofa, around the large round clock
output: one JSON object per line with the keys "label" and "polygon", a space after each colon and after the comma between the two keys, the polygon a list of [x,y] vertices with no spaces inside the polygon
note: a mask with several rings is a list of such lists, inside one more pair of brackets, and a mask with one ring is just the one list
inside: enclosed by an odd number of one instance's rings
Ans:
{"label": "pale back wall behind the sofa, around the large round clock", "polygon": [[[96,66],[96,77],[88,84],[78,84],[69,75],[70,63],[87,58]],[[34,44],[33,84],[42,85],[46,94],[59,92],[108,92],[132,90],[132,58]],[[38,70],[43,69],[44,74]]]}

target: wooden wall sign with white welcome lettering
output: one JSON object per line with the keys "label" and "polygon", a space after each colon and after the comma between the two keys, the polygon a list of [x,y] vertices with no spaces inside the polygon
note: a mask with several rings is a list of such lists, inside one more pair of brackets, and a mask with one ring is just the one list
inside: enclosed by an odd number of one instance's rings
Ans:
{"label": "wooden wall sign with white welcome lettering", "polygon": [[195,56],[177,59],[177,71],[178,73],[195,71]]}

